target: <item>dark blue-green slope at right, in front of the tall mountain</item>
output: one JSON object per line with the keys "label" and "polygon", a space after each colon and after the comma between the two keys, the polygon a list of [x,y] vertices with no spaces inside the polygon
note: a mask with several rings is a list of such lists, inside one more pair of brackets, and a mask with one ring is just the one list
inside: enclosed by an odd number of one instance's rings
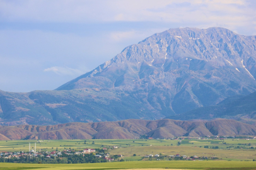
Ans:
{"label": "dark blue-green slope at right, in front of the tall mountain", "polygon": [[256,92],[248,96],[227,98],[218,105],[197,108],[180,115],[168,116],[167,118],[175,120],[229,118],[256,125]]}

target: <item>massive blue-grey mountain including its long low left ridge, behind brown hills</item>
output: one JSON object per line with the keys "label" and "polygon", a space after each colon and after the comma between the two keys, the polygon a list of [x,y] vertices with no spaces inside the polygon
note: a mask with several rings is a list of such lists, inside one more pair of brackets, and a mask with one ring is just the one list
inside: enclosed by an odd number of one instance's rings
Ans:
{"label": "massive blue-grey mountain including its long low left ridge, behind brown hills", "polygon": [[0,91],[2,125],[155,120],[256,89],[256,36],[176,28],[124,48],[54,91]]}

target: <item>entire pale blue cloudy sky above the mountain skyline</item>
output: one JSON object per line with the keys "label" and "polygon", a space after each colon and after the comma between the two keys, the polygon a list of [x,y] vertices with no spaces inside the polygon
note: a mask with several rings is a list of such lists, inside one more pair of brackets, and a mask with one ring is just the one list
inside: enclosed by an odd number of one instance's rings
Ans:
{"label": "entire pale blue cloudy sky above the mountain skyline", "polygon": [[0,0],[0,90],[53,90],[170,28],[256,35],[255,0]]}

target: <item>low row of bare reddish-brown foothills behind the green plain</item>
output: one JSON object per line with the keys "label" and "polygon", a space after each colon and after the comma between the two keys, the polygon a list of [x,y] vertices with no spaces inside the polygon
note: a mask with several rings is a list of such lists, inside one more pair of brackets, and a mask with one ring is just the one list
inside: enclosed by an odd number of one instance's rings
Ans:
{"label": "low row of bare reddish-brown foothills behind the green plain", "polygon": [[0,127],[0,140],[19,139],[134,139],[207,135],[256,135],[256,127],[235,120],[204,122],[178,120],[123,120],[119,122],[65,123]]}

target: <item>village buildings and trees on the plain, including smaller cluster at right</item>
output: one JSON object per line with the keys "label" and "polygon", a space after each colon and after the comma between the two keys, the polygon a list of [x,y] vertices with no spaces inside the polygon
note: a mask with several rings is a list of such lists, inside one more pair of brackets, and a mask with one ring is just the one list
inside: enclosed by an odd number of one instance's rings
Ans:
{"label": "village buildings and trees on the plain, including smaller cluster at right", "polygon": [[[83,150],[74,150],[74,149],[65,149],[65,150],[30,150],[29,152],[1,152],[0,153],[0,162],[38,162],[38,163],[93,163],[93,162],[113,162],[113,161],[125,161],[125,156],[122,154],[119,155],[110,155],[109,149],[118,149],[116,145],[102,149],[83,149]],[[35,144],[36,149],[36,144]],[[136,156],[136,154],[134,154]],[[203,160],[203,159],[218,159],[217,157],[198,157],[198,156],[181,156],[180,154],[175,154],[174,156],[164,156],[163,154],[149,154],[146,156],[141,156],[143,161],[161,161],[161,160]],[[127,161],[127,160],[126,160]]]}

